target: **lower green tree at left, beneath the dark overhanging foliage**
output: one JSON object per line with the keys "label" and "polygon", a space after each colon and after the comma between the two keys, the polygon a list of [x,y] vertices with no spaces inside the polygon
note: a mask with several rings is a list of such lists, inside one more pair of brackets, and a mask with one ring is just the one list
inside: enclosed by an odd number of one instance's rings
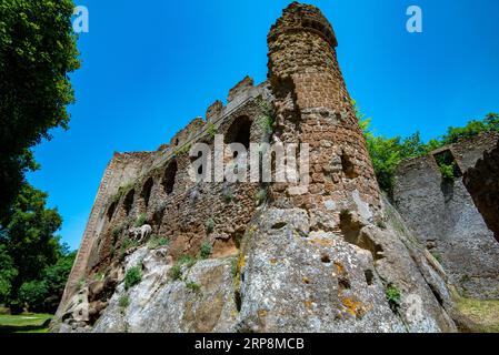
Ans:
{"label": "lower green tree at left, beneath the dark overhanging foliage", "polygon": [[47,194],[24,183],[2,221],[0,303],[14,312],[53,312],[72,266],[73,253],[56,235],[61,216],[46,204]]}

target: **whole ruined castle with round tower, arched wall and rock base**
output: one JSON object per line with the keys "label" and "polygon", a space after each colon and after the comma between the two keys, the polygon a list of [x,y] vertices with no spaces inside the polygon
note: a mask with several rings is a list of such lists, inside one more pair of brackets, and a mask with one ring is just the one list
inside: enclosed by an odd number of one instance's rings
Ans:
{"label": "whole ruined castle with round tower, arched wall and rock base", "polygon": [[[268,34],[266,82],[244,78],[156,152],[114,154],[53,331],[457,329],[452,277],[380,193],[337,45],[320,10],[293,2]],[[214,134],[308,143],[308,190],[193,181],[189,150]],[[152,233],[133,244],[138,220]]]}

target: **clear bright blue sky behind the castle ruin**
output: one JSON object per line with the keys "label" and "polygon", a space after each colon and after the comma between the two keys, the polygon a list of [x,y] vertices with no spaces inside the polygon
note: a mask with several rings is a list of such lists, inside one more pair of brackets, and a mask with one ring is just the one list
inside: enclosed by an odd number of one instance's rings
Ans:
{"label": "clear bright blue sky behind the castle ruin", "polygon": [[[64,219],[79,246],[102,172],[114,151],[156,150],[203,115],[246,74],[267,75],[266,37],[286,0],[77,0],[90,11],[71,75],[70,130],[36,149],[29,181]],[[499,111],[497,0],[323,0],[351,95],[377,133],[425,139]],[[423,10],[423,33],[406,9]]]}

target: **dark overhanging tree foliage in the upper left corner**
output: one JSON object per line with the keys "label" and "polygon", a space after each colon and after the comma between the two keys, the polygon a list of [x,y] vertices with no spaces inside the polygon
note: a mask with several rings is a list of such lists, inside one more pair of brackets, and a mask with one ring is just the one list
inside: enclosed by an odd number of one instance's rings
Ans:
{"label": "dark overhanging tree foliage in the upper left corner", "polygon": [[30,149],[50,129],[68,128],[68,73],[79,68],[73,8],[72,0],[0,1],[0,220],[38,168]]}

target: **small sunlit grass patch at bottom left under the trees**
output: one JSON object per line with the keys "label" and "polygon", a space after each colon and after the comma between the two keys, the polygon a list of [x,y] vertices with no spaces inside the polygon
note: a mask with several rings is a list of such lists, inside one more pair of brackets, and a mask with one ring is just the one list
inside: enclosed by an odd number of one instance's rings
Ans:
{"label": "small sunlit grass patch at bottom left under the trees", "polygon": [[0,333],[47,333],[51,314],[0,314]]}

